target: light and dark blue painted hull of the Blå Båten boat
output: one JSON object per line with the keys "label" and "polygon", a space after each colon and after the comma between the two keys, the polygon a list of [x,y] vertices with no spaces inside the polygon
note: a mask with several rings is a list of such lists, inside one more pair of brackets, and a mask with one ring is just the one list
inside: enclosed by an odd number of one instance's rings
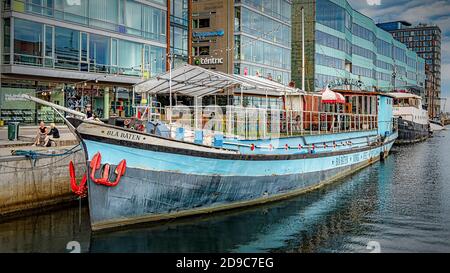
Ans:
{"label": "light and dark blue painted hull of the Bl\u00e5 B\u00e5ten boat", "polygon": [[[326,137],[333,139],[333,135]],[[363,133],[334,135],[334,139],[349,137],[354,143],[370,138]],[[277,151],[283,155],[247,157],[250,151],[226,156],[191,155],[82,135],[88,159],[100,152],[102,164],[109,163],[112,169],[121,160],[127,161],[125,175],[116,187],[89,181],[91,226],[99,230],[288,198],[376,162],[389,153],[396,137],[393,134],[372,146],[355,144],[351,148],[328,148],[329,152],[324,148],[312,155],[292,149]],[[282,141],[305,143],[311,139]],[[130,147],[133,145],[136,147]]]}

